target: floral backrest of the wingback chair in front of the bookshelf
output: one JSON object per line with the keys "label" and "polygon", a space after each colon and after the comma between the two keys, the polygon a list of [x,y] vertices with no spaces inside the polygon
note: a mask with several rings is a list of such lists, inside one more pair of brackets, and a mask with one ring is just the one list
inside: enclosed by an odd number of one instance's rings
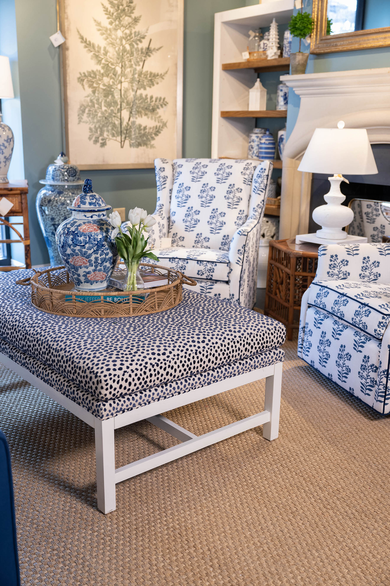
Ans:
{"label": "floral backrest of the wingback chair in front of the bookshelf", "polygon": [[248,217],[255,161],[175,159],[170,199],[172,246],[229,250]]}

